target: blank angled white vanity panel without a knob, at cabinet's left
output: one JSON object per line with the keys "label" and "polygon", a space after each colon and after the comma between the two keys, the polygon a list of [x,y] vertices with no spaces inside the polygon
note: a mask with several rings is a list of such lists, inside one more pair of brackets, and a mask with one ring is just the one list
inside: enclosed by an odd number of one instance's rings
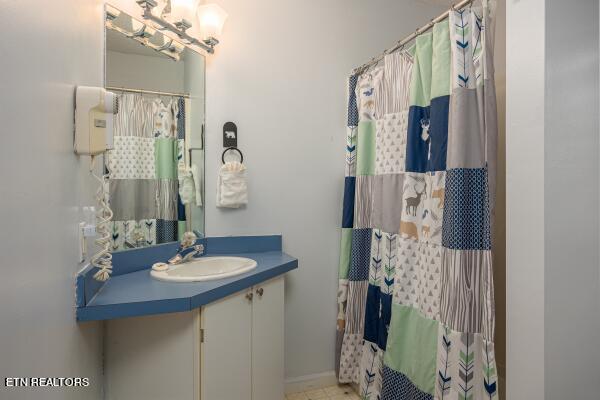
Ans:
{"label": "blank angled white vanity panel without a knob, at cabinet's left", "polygon": [[198,310],[106,321],[107,400],[197,400]]}

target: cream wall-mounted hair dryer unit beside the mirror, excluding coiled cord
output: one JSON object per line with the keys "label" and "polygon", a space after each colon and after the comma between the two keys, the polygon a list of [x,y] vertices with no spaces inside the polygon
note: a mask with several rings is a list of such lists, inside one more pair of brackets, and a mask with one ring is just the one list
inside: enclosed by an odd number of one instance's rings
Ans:
{"label": "cream wall-mounted hair dryer unit beside the mirror, excluding coiled cord", "polygon": [[75,89],[75,152],[97,155],[113,147],[113,115],[119,111],[117,95],[101,87]]}

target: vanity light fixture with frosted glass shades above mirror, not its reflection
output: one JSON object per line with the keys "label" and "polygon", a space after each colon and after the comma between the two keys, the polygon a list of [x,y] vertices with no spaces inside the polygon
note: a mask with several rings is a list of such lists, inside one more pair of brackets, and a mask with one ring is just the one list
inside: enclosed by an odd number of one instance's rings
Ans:
{"label": "vanity light fixture with frosted glass shades above mirror, not its reflection", "polygon": [[[219,43],[215,36],[220,33],[227,18],[227,13],[219,6],[211,4],[212,7],[204,9],[207,6],[198,7],[199,0],[170,0],[170,8],[164,8],[159,16],[153,11],[158,6],[156,0],[136,0],[136,2],[143,9],[144,19],[152,22],[158,29],[173,32],[185,43],[198,46],[209,54],[215,52],[215,46]],[[217,10],[215,7],[219,12],[215,13]],[[200,14],[201,10],[203,10],[202,14]],[[195,20],[199,20],[201,39],[193,36],[196,33],[192,32],[191,28],[194,27]],[[206,27],[203,27],[203,24],[206,24]]]}

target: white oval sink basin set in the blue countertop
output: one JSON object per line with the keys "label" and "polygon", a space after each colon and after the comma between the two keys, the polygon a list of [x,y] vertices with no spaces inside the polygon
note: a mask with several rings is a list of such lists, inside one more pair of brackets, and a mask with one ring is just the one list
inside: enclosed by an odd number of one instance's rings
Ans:
{"label": "white oval sink basin set in the blue countertop", "polygon": [[154,279],[166,282],[199,282],[229,278],[256,268],[256,261],[244,257],[201,257],[169,266],[166,271],[150,272]]}

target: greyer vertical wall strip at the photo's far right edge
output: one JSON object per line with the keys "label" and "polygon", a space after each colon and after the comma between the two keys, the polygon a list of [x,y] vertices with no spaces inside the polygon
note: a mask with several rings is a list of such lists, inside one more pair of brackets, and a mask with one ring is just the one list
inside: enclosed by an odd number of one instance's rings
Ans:
{"label": "greyer vertical wall strip at the photo's far right edge", "polygon": [[598,44],[598,1],[546,0],[547,400],[599,397]]}

